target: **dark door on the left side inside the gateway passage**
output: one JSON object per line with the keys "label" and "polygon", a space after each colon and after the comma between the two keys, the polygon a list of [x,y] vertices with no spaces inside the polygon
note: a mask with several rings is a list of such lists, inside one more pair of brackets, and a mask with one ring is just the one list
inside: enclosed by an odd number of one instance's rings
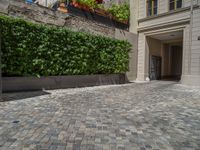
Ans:
{"label": "dark door on the left side inside the gateway passage", "polygon": [[161,79],[161,57],[150,56],[149,75],[150,75],[150,80]]}

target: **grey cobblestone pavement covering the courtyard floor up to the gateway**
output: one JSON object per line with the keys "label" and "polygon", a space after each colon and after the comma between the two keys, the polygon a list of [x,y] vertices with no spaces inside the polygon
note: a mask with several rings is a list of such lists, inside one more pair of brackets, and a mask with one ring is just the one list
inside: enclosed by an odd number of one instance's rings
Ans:
{"label": "grey cobblestone pavement covering the courtyard floor up to the gateway", "polygon": [[200,89],[151,82],[12,93],[1,150],[199,150]]}

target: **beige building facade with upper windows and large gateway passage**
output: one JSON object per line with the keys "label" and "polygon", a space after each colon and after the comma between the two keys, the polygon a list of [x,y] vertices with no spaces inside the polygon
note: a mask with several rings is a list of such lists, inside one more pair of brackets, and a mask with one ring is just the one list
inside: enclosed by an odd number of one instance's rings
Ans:
{"label": "beige building facade with upper windows and large gateway passage", "polygon": [[130,0],[136,81],[200,85],[200,0]]}

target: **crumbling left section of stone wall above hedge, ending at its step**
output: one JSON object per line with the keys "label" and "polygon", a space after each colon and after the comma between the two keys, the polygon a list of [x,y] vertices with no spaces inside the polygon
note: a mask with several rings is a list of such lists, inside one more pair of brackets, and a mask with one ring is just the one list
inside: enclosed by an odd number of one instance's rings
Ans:
{"label": "crumbling left section of stone wall above hedge, ending at its step", "polygon": [[68,14],[54,12],[48,8],[29,5],[21,0],[0,0],[0,13],[9,16],[19,17],[34,23],[44,23],[64,26]]}

